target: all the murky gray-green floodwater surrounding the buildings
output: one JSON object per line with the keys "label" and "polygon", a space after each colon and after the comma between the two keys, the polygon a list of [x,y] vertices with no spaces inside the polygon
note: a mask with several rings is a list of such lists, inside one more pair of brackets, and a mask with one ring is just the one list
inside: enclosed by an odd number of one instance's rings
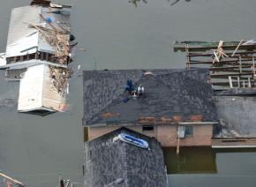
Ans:
{"label": "all the murky gray-green floodwater surrounding the buildings", "polygon": [[[72,34],[86,51],[77,50],[73,64],[81,64],[82,70],[183,68],[185,57],[172,52],[174,41],[240,41],[256,36],[255,0],[180,0],[172,6],[172,0],[147,0],[147,4],[139,1],[137,8],[128,0],[58,2],[74,5]],[[29,3],[1,4],[1,51],[11,8]],[[0,169],[30,187],[58,186],[58,174],[83,186],[83,100],[78,75],[70,80],[68,111],[42,117],[17,113],[19,84],[5,82],[0,71]],[[172,166],[177,174],[169,175],[169,186],[255,186],[255,152],[192,152],[203,153],[181,156],[179,168]],[[202,173],[193,170],[200,164],[207,164],[198,169]],[[211,167],[213,172],[208,171]]]}

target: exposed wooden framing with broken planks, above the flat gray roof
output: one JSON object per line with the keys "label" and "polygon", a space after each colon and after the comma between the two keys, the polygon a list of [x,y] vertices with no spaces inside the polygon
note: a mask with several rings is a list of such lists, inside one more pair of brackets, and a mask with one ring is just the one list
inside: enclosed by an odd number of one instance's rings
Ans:
{"label": "exposed wooden framing with broken planks, above the flat gray roof", "polygon": [[186,53],[187,69],[207,68],[215,91],[256,87],[256,41],[176,41]]}

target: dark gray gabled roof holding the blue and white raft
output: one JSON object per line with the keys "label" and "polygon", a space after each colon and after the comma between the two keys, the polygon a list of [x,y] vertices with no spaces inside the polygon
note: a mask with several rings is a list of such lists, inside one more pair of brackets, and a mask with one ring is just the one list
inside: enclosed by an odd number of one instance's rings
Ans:
{"label": "dark gray gabled roof holding the blue and white raft", "polygon": [[[113,143],[122,132],[146,140],[151,150]],[[124,178],[119,187],[165,187],[165,173],[162,148],[154,138],[121,128],[85,143],[85,187],[101,187],[117,178]]]}

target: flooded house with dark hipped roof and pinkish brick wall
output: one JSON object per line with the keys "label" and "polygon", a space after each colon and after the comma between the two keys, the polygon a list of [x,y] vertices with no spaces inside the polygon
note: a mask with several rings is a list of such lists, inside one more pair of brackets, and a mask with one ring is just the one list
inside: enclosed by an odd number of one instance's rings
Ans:
{"label": "flooded house with dark hipped roof and pinkish brick wall", "polygon": [[[218,115],[200,70],[84,71],[88,139],[126,127],[162,146],[211,146]],[[141,95],[127,91],[128,82]],[[131,86],[131,85],[130,85]]]}

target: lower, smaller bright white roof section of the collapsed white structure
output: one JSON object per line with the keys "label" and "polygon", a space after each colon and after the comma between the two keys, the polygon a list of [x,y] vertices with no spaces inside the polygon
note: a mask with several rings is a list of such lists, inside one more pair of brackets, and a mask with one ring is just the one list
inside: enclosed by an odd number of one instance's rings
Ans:
{"label": "lower, smaller bright white roof section of the collapsed white structure", "polygon": [[59,111],[64,96],[56,91],[50,79],[49,66],[45,64],[29,67],[20,79],[19,112],[38,109]]}

